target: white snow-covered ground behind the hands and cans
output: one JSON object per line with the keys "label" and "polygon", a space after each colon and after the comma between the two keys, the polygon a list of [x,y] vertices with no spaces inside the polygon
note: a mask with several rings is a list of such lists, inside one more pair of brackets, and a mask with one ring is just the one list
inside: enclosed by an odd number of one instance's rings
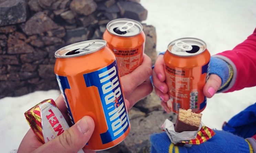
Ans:
{"label": "white snow-covered ground behind the hands and cans", "polygon": [[[212,55],[232,49],[256,27],[256,1],[234,0],[141,0],[148,10],[148,19],[157,30],[157,50],[165,51],[170,41],[181,37],[204,40]],[[57,90],[37,91],[20,97],[0,99],[1,152],[18,149],[29,129],[24,112],[38,102],[60,94]],[[202,121],[221,129],[242,109],[256,102],[256,87],[233,93],[217,94],[208,99]]]}

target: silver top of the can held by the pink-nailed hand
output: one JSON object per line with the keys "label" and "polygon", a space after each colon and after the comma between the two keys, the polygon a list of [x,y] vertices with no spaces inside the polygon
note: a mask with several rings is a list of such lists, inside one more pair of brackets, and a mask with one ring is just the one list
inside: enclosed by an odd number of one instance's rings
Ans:
{"label": "silver top of the can held by the pink-nailed hand", "polygon": [[176,56],[196,56],[206,50],[206,44],[198,38],[180,38],[168,45],[168,51]]}

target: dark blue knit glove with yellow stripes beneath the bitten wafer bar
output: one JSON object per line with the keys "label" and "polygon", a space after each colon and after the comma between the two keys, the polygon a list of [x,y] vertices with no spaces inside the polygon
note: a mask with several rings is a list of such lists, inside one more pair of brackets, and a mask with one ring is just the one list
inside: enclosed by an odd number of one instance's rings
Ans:
{"label": "dark blue knit glove with yellow stripes beneath the bitten wafer bar", "polygon": [[151,153],[253,153],[247,140],[226,131],[214,132],[216,134],[211,139],[191,148],[173,145],[166,132],[152,134]]}

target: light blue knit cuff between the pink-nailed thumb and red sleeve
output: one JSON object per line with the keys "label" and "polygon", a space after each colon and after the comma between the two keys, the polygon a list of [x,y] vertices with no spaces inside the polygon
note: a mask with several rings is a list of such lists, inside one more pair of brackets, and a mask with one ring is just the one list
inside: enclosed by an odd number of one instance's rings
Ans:
{"label": "light blue knit cuff between the pink-nailed thumb and red sleeve", "polygon": [[220,76],[221,78],[221,87],[219,89],[220,91],[225,89],[229,85],[233,76],[233,70],[232,70],[232,67],[224,60],[219,59],[217,57],[211,57],[210,74],[216,74]]}

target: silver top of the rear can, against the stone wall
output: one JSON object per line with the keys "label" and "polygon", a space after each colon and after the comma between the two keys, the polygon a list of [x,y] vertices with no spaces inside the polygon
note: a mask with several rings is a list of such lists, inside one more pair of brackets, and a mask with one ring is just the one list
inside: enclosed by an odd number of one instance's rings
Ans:
{"label": "silver top of the rear can, against the stone wall", "polygon": [[136,36],[140,34],[142,30],[142,25],[131,19],[116,19],[107,24],[107,31],[120,37]]}

